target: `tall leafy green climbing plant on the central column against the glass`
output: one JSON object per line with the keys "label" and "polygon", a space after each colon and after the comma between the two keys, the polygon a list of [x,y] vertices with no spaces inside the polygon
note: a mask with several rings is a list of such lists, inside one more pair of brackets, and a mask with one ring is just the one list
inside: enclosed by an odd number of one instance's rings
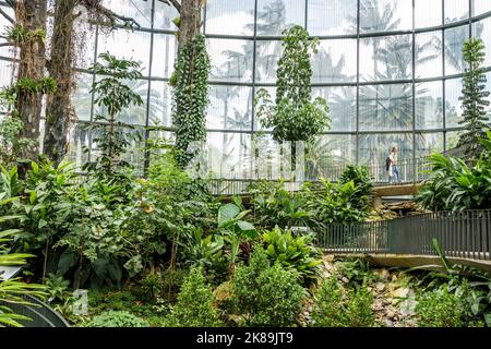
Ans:
{"label": "tall leafy green climbing plant on the central column against the glass", "polygon": [[283,33],[284,52],[278,61],[276,101],[265,89],[255,96],[258,117],[264,128],[273,128],[276,141],[311,141],[330,127],[328,107],[318,97],[311,101],[312,68],[310,52],[316,52],[319,40],[296,25]]}

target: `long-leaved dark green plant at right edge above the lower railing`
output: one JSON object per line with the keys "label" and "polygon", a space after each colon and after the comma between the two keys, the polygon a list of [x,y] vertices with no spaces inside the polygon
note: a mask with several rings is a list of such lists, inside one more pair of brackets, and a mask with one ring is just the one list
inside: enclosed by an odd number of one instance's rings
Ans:
{"label": "long-leaved dark green plant at right edge above the lower railing", "polygon": [[[491,132],[482,141],[491,152]],[[416,196],[422,206],[432,210],[482,209],[491,207],[491,159],[482,154],[474,166],[441,154],[430,156],[431,172]]]}

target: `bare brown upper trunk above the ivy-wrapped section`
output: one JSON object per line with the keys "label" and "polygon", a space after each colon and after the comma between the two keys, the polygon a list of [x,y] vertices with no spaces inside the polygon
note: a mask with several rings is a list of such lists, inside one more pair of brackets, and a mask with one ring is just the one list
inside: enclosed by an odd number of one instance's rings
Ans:
{"label": "bare brown upper trunk above the ivy-wrapped section", "polygon": [[202,8],[203,0],[182,0],[178,51],[200,34]]}

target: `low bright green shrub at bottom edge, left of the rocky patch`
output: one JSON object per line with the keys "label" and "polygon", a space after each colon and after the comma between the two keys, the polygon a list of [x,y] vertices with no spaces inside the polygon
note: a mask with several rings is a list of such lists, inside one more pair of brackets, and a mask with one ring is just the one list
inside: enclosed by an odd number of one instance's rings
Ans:
{"label": "low bright green shrub at bottom edge, left of the rocky patch", "polygon": [[313,326],[370,327],[375,325],[371,310],[373,294],[363,285],[344,292],[336,276],[325,279],[312,310]]}

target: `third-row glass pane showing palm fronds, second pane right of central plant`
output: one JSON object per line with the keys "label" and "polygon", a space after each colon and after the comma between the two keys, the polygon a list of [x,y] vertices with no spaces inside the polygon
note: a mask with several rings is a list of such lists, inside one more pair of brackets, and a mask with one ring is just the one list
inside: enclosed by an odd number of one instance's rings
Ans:
{"label": "third-row glass pane showing palm fronds, second pane right of central plant", "polygon": [[360,86],[359,122],[363,131],[412,129],[412,86]]}

